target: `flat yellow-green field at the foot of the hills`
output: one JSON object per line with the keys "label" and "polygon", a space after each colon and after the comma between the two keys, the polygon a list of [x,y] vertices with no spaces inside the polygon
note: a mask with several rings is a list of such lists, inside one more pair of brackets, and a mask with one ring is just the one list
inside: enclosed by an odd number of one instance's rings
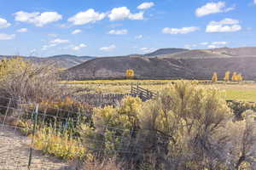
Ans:
{"label": "flat yellow-green field at the foot of the hills", "polygon": [[[131,83],[134,86],[139,84],[142,88],[147,88],[153,92],[159,91],[161,88],[169,86],[174,80],[96,80],[96,81],[71,81],[61,82],[67,84],[70,88],[84,88],[81,93],[91,94],[129,94],[131,91]],[[201,81],[206,82],[206,81]],[[224,91],[224,99],[236,99],[243,101],[256,102],[256,83],[210,83],[200,84],[203,88],[218,88]]]}

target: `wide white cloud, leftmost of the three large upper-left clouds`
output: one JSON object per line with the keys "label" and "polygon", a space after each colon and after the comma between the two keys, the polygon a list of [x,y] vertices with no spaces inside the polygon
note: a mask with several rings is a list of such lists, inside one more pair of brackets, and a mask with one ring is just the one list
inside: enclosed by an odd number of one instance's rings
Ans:
{"label": "wide white cloud, leftmost of the three large upper-left clouds", "polygon": [[44,26],[61,19],[61,14],[58,14],[57,12],[44,12],[40,14],[39,12],[26,13],[24,11],[19,11],[15,13],[15,20],[32,23],[36,26]]}

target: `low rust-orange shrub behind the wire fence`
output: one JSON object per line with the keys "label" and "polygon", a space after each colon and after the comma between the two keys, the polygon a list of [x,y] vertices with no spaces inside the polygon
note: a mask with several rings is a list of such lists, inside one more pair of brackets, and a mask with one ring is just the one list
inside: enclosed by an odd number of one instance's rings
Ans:
{"label": "low rust-orange shrub behind the wire fence", "polygon": [[[90,122],[92,107],[86,103],[80,103],[70,97],[64,99],[44,100],[38,108],[38,122],[54,125],[69,124],[74,127],[80,122]],[[23,105],[26,117],[30,118],[36,105]]]}

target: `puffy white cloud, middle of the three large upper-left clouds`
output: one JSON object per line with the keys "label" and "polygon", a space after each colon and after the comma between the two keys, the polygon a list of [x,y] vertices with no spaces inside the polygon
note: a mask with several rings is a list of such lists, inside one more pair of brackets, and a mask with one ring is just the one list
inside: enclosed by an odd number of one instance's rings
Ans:
{"label": "puffy white cloud, middle of the three large upper-left clouds", "polygon": [[73,17],[69,18],[68,21],[72,22],[73,25],[84,25],[88,23],[95,23],[98,20],[103,20],[106,17],[104,13],[98,13],[93,8],[88,9],[84,12],[79,12]]}

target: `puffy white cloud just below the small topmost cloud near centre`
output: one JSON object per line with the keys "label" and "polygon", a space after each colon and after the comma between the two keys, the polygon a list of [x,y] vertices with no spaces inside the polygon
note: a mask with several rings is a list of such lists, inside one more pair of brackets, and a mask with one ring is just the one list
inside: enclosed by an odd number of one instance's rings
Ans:
{"label": "puffy white cloud just below the small topmost cloud near centre", "polygon": [[131,11],[127,7],[119,7],[119,8],[113,8],[111,10],[111,13],[108,14],[108,18],[111,21],[114,20],[143,20],[143,12],[139,12],[137,14],[131,14]]}

